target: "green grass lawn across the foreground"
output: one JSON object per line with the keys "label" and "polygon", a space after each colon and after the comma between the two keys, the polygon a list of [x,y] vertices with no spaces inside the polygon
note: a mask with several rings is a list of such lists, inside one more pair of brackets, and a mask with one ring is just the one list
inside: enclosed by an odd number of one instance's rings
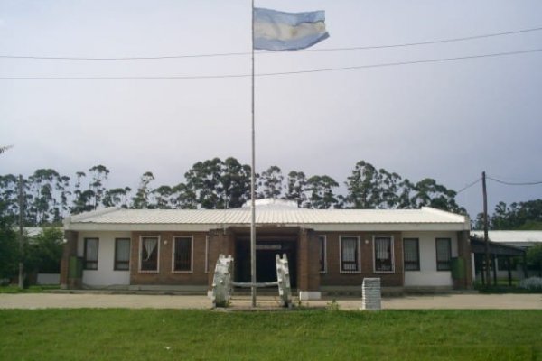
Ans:
{"label": "green grass lawn across the foreground", "polygon": [[540,310],[0,310],[2,360],[542,360]]}

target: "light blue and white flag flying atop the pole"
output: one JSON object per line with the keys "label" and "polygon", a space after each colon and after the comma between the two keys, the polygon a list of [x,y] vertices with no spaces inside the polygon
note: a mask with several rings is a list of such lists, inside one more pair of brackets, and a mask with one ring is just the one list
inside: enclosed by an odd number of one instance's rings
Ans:
{"label": "light blue and white flag flying atop the pole", "polygon": [[266,51],[296,51],[313,46],[328,38],[325,13],[283,13],[276,10],[254,9],[254,49]]}

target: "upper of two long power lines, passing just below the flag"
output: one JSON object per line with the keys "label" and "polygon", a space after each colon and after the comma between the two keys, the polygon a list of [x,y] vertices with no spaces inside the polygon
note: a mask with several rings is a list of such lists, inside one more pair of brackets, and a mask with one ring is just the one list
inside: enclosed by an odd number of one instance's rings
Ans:
{"label": "upper of two long power lines, passing just below the flag", "polygon": [[[443,42],[465,42],[475,39],[491,38],[504,35],[512,35],[523,32],[538,32],[541,31],[542,27],[529,28],[515,30],[511,32],[493,32],[488,34],[473,35],[473,36],[464,36],[461,38],[449,38],[449,39],[440,39],[435,41],[428,42],[406,42],[399,44],[388,44],[388,45],[370,45],[370,46],[355,46],[355,47],[343,47],[343,48],[327,48],[327,49],[305,49],[295,52],[317,52],[317,51],[365,51],[365,50],[376,50],[376,49],[388,49],[388,48],[403,48],[409,46],[420,46],[420,45],[431,45],[438,44]],[[251,52],[222,52],[222,53],[209,53],[209,54],[186,54],[186,55],[165,55],[165,56],[149,56],[149,57],[117,57],[117,58],[107,58],[107,57],[65,57],[65,56],[34,56],[34,55],[0,55],[0,59],[26,59],[26,60],[168,60],[168,59],[185,59],[185,58],[213,58],[213,57],[227,57],[227,56],[242,56],[250,55]],[[264,54],[276,54],[274,51],[258,51],[258,55]]]}

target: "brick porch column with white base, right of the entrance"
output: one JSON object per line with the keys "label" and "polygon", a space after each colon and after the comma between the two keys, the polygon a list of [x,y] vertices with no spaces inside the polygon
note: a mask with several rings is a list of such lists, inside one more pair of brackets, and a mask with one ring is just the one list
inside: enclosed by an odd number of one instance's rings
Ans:
{"label": "brick porch column with white base, right of the entrance", "polygon": [[312,229],[299,231],[297,287],[301,301],[320,300],[320,249]]}

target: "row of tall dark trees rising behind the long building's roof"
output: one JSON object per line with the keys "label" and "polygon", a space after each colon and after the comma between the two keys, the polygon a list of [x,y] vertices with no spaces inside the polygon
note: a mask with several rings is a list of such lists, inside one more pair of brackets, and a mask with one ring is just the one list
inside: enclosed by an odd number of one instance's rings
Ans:
{"label": "row of tall dark trees rising behind the long building's roof", "polygon": [[[95,165],[75,176],[53,169],[39,169],[23,178],[25,226],[59,224],[69,214],[103,208],[223,209],[238,208],[250,199],[250,166],[229,157],[196,162],[173,185],[154,186],[154,174],[145,171],[137,188],[107,188],[110,171]],[[0,196],[5,213],[18,217],[19,178],[0,176]],[[257,173],[257,199],[290,199],[303,208],[420,208],[430,206],[466,213],[455,201],[456,192],[427,178],[413,182],[395,172],[357,162],[344,181],[346,194],[328,175],[283,172],[273,165]]]}

